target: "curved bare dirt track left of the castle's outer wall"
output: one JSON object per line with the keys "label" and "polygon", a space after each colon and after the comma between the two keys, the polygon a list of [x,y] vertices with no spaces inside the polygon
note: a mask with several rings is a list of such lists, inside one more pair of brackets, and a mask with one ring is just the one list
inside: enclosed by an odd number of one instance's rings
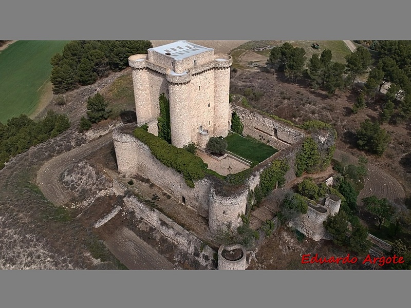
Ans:
{"label": "curved bare dirt track left of the castle's outer wall", "polygon": [[113,142],[111,133],[107,133],[105,136],[74,148],[71,151],[62,153],[46,162],[40,168],[36,178],[36,184],[39,185],[44,196],[55,205],[66,204],[72,196],[60,183],[62,172],[69,164],[78,162],[109,142]]}

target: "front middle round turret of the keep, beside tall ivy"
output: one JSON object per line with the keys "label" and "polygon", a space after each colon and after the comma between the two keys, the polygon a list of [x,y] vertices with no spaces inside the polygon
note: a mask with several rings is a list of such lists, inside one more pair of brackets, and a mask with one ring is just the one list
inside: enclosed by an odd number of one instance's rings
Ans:
{"label": "front middle round turret of the keep, beside tall ivy", "polygon": [[191,73],[187,70],[177,74],[172,70],[165,73],[169,82],[171,143],[179,148],[191,142],[190,81]]}

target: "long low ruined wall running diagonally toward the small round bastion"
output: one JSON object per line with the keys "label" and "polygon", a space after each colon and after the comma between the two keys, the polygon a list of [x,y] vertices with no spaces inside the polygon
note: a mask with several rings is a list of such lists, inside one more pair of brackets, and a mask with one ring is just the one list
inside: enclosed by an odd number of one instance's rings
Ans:
{"label": "long low ruined wall running diagonally toward the small round bastion", "polygon": [[133,210],[135,215],[155,227],[159,232],[177,244],[192,260],[198,261],[207,269],[215,269],[213,264],[214,249],[202,242],[188,230],[184,229],[159,210],[151,208],[135,197],[124,198],[124,205]]}

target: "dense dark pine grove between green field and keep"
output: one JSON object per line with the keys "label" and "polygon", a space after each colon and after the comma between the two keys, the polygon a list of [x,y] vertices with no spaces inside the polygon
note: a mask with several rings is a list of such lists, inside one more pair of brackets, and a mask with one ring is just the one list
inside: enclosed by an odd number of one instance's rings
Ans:
{"label": "dense dark pine grove between green field and keep", "polygon": [[53,92],[93,84],[110,71],[125,69],[130,55],[151,47],[150,41],[71,41],[50,60]]}

